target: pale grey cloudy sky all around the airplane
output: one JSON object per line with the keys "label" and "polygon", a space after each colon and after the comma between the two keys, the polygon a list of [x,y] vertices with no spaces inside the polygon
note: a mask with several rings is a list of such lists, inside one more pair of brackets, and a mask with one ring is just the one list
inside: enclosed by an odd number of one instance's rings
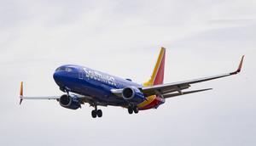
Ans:
{"label": "pale grey cloudy sky all around the airplane", "polygon": [[[0,1],[0,145],[255,145],[256,1]],[[89,105],[61,108],[25,95],[61,95],[52,74],[78,64],[147,81],[159,48],[165,82],[236,70],[194,85],[206,93],[171,98],[158,110],[128,115]]]}

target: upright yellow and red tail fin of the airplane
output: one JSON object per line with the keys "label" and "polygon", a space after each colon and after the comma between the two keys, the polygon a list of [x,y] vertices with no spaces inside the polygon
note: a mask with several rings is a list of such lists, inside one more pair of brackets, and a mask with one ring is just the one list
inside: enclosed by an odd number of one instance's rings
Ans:
{"label": "upright yellow and red tail fin of the airplane", "polygon": [[165,75],[165,59],[166,48],[161,48],[152,76],[149,81],[143,83],[144,87],[163,84]]}

